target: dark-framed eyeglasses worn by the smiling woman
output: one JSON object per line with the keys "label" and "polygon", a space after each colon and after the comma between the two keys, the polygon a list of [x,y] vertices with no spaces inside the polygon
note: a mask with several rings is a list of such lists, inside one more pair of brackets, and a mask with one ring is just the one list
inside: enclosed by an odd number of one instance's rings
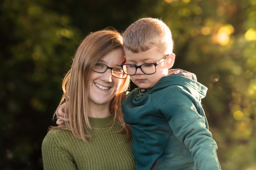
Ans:
{"label": "dark-framed eyeglasses worn by the smiling woman", "polygon": [[124,70],[121,68],[116,67],[108,67],[106,64],[102,63],[95,63],[95,65],[92,68],[92,71],[95,71],[97,73],[105,73],[108,69],[111,70],[111,74],[116,78],[126,78],[127,75],[124,74]]}

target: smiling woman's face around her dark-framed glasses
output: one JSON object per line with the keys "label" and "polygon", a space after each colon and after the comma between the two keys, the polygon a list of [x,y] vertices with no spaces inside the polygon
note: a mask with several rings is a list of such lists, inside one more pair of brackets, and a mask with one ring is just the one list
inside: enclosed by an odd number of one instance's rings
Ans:
{"label": "smiling woman's face around her dark-framed glasses", "polygon": [[[123,63],[124,51],[123,48],[117,48],[104,55],[98,63],[103,63],[108,67],[121,68],[120,64]],[[111,70],[107,69],[105,73],[98,73],[92,71],[88,81],[89,87],[89,106],[109,106],[110,101],[114,98],[117,89],[120,87],[123,79],[116,78],[111,74]]]}

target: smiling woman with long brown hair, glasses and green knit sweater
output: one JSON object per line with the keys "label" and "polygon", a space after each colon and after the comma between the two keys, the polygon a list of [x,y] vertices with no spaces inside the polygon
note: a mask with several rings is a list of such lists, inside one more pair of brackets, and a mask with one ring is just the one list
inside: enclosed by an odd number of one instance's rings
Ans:
{"label": "smiling woman with long brown hair, glasses and green knit sweater", "polygon": [[124,61],[116,31],[90,33],[82,41],[62,84],[68,121],[44,138],[44,169],[135,169],[131,131],[121,113],[129,86]]}

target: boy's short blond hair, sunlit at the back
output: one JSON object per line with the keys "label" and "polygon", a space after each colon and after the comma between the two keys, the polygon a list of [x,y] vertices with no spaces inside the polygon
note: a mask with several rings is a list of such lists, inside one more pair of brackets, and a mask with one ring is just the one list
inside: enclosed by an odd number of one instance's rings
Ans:
{"label": "boy's short blond hair, sunlit at the back", "polygon": [[141,18],[124,32],[124,50],[140,53],[152,47],[159,52],[172,53],[172,33],[169,27],[158,18]]}

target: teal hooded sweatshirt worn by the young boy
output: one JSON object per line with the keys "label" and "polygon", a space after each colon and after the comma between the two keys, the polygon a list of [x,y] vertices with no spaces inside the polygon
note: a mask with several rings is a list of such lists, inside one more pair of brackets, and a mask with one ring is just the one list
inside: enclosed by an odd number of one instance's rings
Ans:
{"label": "teal hooded sweatshirt worn by the young boy", "polygon": [[194,74],[175,70],[151,89],[127,95],[122,111],[132,129],[137,170],[220,169],[201,106],[206,91]]}

